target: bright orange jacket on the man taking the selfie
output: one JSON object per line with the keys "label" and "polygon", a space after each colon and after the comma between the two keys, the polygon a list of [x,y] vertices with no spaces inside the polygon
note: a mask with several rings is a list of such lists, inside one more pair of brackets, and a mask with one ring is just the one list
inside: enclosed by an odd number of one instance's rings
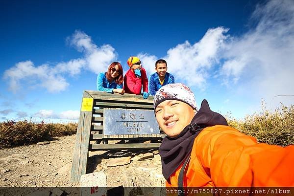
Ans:
{"label": "bright orange jacket on the man taking the selfie", "polygon": [[[254,137],[228,126],[203,129],[194,140],[188,164],[184,187],[294,186],[293,145],[257,144]],[[167,188],[178,186],[182,165],[166,182]]]}

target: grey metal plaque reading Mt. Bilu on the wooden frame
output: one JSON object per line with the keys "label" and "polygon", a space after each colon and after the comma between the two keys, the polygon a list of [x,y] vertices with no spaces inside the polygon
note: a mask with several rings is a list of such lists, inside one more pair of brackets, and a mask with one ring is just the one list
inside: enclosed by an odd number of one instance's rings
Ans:
{"label": "grey metal plaque reading Mt. Bilu on the wooden frame", "polygon": [[160,134],[153,110],[104,109],[103,135]]}

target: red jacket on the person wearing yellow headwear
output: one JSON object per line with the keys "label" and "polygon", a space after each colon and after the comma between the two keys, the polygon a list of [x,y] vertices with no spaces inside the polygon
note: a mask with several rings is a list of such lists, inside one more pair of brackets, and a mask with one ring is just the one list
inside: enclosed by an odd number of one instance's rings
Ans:
{"label": "red jacket on the person wearing yellow headwear", "polygon": [[142,67],[141,78],[137,78],[131,69],[127,70],[124,75],[123,89],[125,93],[139,95],[143,86],[143,92],[148,92],[148,79],[146,70]]}

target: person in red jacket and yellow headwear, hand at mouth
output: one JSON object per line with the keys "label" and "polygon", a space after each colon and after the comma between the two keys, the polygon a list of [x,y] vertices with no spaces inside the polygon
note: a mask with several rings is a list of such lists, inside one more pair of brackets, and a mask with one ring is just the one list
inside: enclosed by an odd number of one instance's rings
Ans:
{"label": "person in red jacket and yellow headwear, hand at mouth", "polygon": [[143,87],[143,98],[148,98],[148,79],[146,70],[138,57],[130,57],[127,60],[130,69],[124,75],[123,88],[125,93],[141,94]]}

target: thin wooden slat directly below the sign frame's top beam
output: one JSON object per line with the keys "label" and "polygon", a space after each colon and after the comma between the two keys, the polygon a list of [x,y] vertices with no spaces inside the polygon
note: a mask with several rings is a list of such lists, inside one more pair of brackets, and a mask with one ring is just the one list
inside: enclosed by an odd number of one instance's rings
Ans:
{"label": "thin wooden slat directly below the sign frame's top beam", "polygon": [[129,104],[129,103],[112,103],[95,101],[95,106],[104,106],[105,108],[131,108],[131,109],[154,109],[153,105]]}

